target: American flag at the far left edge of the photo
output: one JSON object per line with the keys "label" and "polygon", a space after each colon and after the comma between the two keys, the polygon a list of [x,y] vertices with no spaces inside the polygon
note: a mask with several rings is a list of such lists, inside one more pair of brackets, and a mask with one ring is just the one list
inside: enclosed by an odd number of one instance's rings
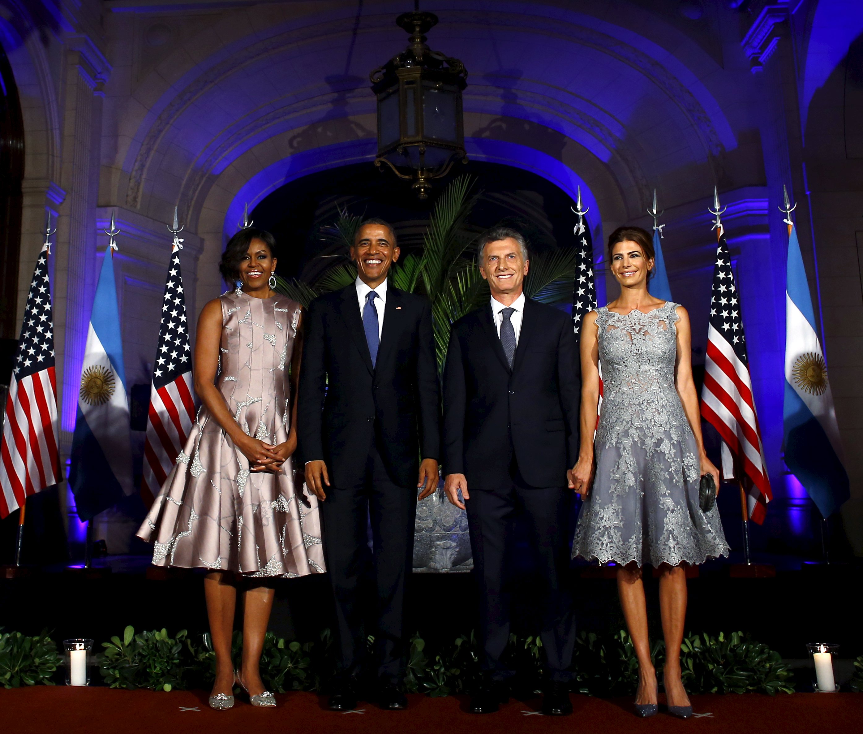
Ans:
{"label": "American flag at the far left edge of the photo", "polygon": [[[48,224],[50,232],[50,221]],[[27,497],[60,481],[57,452],[57,381],[54,376],[54,319],[48,255],[42,245],[24,307],[15,370],[6,398],[0,444],[0,518]]]}

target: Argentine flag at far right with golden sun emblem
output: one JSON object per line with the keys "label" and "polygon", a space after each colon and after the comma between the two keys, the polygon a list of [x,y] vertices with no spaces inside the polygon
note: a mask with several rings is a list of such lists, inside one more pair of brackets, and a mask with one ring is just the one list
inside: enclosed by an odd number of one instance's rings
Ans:
{"label": "Argentine flag at far right with golden sun emblem", "polygon": [[809,283],[791,226],[785,289],[785,465],[809,492],[822,517],[849,497],[839,427],[827,379],[824,352],[815,330]]}

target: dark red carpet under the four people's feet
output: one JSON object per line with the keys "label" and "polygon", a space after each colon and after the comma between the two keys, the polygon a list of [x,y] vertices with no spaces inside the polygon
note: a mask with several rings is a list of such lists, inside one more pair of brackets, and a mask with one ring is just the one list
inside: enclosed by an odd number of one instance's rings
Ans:
{"label": "dark red carpet under the four people's feet", "polygon": [[[575,696],[575,714],[545,718],[533,714],[539,701],[511,700],[501,712],[464,712],[467,699],[411,696],[406,712],[383,712],[361,704],[362,712],[333,713],[312,693],[279,696],[279,708],[253,709],[238,701],[227,712],[207,708],[203,693],[119,691],[109,688],[44,687],[0,689],[0,731],[9,734],[254,734],[346,732],[346,734],[491,734],[491,732],[689,732],[690,734],[819,734],[863,731],[863,693],[797,693],[694,696],[699,718],[680,721],[659,713],[640,720],[627,701]],[[195,709],[198,709],[197,711]]]}

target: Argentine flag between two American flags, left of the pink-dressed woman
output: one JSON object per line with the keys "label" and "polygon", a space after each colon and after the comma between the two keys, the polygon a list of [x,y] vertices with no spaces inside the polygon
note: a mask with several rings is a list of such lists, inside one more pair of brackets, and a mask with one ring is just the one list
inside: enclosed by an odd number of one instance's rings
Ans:
{"label": "Argentine flag between two American flags, left of the pink-dressed woman", "polygon": [[72,436],[69,486],[81,520],[90,520],[134,491],[129,401],[114,286],[115,247],[112,237],[93,300]]}

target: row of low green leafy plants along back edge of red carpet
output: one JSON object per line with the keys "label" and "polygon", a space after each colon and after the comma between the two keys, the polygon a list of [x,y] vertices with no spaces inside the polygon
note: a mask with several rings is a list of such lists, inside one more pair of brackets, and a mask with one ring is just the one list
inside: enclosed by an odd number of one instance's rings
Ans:
{"label": "row of low green leafy plants along back edge of red carpet", "polygon": [[[369,637],[369,650],[374,639]],[[233,651],[239,660],[243,638],[235,632]],[[135,634],[104,642],[98,666],[112,688],[208,688],[215,675],[215,655],[209,635],[198,640],[186,630],[169,636],[167,630]],[[544,655],[539,637],[510,637],[507,665],[517,671],[523,690],[539,691],[544,680]],[[652,656],[661,674],[665,661],[663,642],[654,643]],[[480,674],[476,636],[459,636],[453,642],[427,645],[413,636],[408,654],[406,687],[411,693],[448,696],[469,693]],[[0,636],[0,683],[4,687],[53,685],[61,657],[43,633]],[[854,690],[863,688],[863,657],[856,662]],[[778,653],[741,632],[718,636],[690,635],[681,646],[683,684],[690,693],[793,693],[791,671]],[[638,661],[633,642],[623,630],[614,636],[581,632],[576,639],[573,689],[595,696],[631,695],[638,684]],[[317,640],[297,642],[268,632],[261,654],[261,678],[276,693],[320,691],[335,670],[330,630]]]}

